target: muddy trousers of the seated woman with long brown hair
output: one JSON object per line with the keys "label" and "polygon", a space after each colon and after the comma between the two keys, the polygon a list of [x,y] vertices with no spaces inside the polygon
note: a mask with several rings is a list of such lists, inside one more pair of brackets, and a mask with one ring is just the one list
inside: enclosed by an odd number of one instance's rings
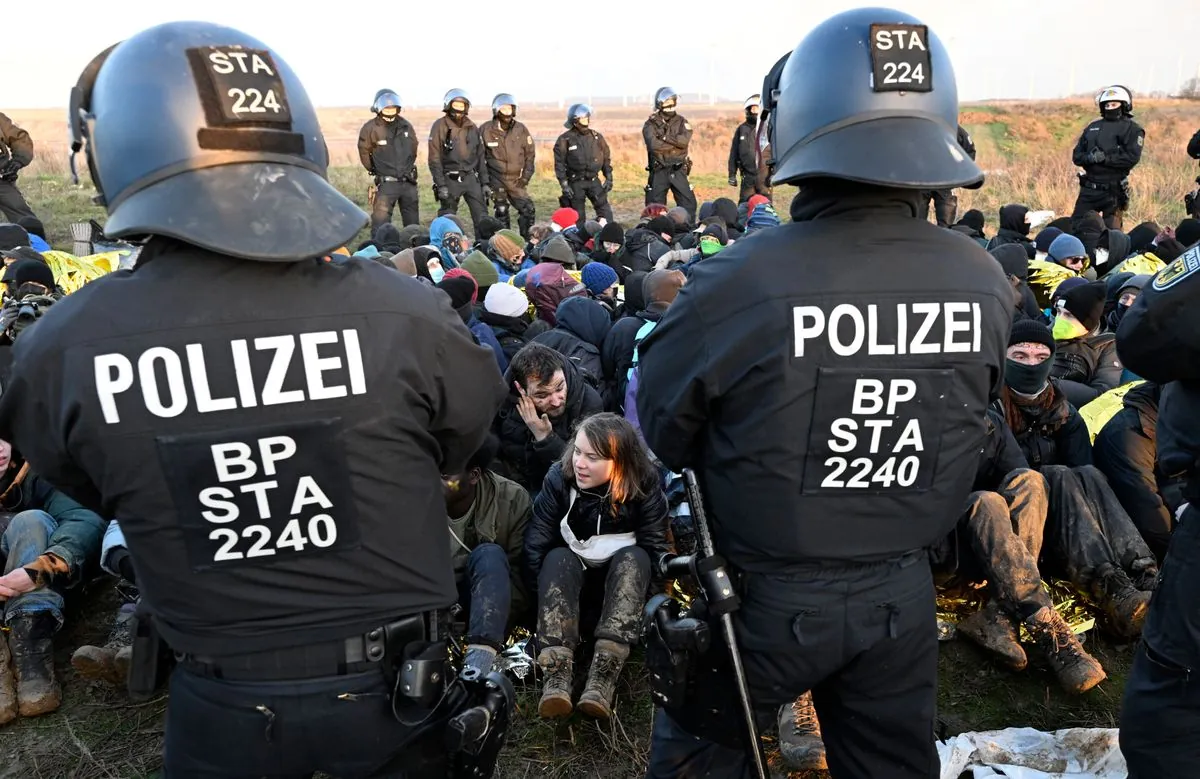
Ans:
{"label": "muddy trousers of the seated woman with long brown hair", "polygon": [[637,642],[642,609],[650,587],[650,556],[626,546],[607,565],[587,568],[565,546],[551,550],[538,575],[538,637],[541,646],[580,645],[580,612],[584,589],[604,587],[604,606],[595,637],[618,643]]}

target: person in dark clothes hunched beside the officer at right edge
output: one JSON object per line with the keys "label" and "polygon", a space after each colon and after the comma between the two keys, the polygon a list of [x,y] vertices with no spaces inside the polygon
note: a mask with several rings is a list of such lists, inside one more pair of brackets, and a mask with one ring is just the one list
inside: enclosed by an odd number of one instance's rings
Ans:
{"label": "person in dark clothes hunched beside the officer at right edge", "polygon": [[[1092,450],[1096,467],[1108,479],[1112,493],[1159,562],[1166,556],[1175,529],[1172,509],[1182,503],[1178,496],[1171,495],[1169,485],[1159,486],[1156,475],[1156,425],[1162,391],[1160,385],[1146,382],[1126,393],[1121,411],[1097,433]],[[1164,499],[1164,493],[1172,499]]]}

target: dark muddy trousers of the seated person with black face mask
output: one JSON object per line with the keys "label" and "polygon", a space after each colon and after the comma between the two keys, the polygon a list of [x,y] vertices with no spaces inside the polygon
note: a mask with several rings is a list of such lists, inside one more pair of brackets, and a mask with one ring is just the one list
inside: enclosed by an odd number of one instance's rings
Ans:
{"label": "dark muddy trousers of the seated person with black face mask", "polygon": [[1154,564],[1150,546],[1094,466],[1045,466],[1042,475],[1050,489],[1046,549],[1044,555],[1032,551],[1051,570],[1088,589],[1108,564],[1127,573]]}

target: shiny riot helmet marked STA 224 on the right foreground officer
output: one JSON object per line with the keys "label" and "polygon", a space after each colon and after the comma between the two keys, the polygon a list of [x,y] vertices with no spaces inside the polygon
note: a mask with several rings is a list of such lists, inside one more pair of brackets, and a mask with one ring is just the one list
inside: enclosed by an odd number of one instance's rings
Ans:
{"label": "shiny riot helmet marked STA 224 on the right foreground officer", "polygon": [[907,13],[858,8],[827,19],[792,52],[779,90],[770,124],[773,184],[983,184],[983,172],[958,144],[950,58]]}

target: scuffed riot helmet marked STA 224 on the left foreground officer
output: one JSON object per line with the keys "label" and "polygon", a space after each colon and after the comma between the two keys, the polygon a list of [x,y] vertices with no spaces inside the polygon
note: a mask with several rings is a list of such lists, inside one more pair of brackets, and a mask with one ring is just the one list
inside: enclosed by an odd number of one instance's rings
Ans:
{"label": "scuffed riot helmet marked STA 224 on the left foreground officer", "polygon": [[68,112],[71,149],[86,151],[113,238],[168,235],[295,262],[342,246],[367,221],[326,180],[304,85],[245,32],[205,22],[138,32],[84,68]]}

